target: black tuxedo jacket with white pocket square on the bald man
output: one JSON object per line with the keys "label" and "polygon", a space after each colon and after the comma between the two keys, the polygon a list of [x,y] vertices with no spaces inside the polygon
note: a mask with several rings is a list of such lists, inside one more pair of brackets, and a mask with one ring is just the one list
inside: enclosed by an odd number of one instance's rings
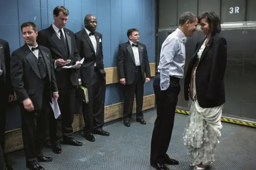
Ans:
{"label": "black tuxedo jacket with white pocket square on the bald man", "polygon": [[82,29],[75,34],[78,53],[81,58],[84,58],[84,62],[80,68],[82,84],[91,83],[94,74],[94,63],[96,63],[96,66],[100,71],[100,75],[103,78],[106,78],[106,72],[103,64],[102,35],[95,31],[94,36],[97,41],[96,53],[94,51],[91,39],[86,33],[85,29]]}

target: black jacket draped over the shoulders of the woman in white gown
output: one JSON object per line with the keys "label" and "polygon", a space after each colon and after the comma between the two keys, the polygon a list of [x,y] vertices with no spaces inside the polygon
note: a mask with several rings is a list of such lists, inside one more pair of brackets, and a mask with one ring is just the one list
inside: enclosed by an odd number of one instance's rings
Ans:
{"label": "black jacket draped over the shoulders of the woman in white gown", "polygon": [[[189,100],[189,84],[197,52],[205,38],[196,44],[196,50],[189,62],[184,83],[185,100]],[[217,107],[225,103],[224,75],[227,65],[227,42],[220,34],[213,35],[206,45],[196,69],[196,95],[202,108]]]}

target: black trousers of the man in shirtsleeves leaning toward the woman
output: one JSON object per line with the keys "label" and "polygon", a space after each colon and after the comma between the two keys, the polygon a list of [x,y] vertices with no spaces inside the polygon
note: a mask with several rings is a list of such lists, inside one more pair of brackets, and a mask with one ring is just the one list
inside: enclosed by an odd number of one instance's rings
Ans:
{"label": "black trousers of the man in shirtsleeves leaning toward the woman", "polygon": [[179,78],[170,77],[170,86],[161,91],[160,75],[158,74],[153,82],[156,97],[157,118],[151,139],[150,163],[163,163],[167,158],[166,154],[172,136],[175,108],[180,93]]}

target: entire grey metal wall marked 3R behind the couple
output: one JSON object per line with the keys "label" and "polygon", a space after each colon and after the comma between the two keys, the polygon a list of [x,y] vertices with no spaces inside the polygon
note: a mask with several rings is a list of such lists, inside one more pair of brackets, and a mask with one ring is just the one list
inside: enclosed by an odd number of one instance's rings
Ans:
{"label": "entire grey metal wall marked 3R behind the couple", "polygon": [[[162,7],[162,8],[161,8]],[[233,8],[231,8],[233,7]],[[162,43],[178,26],[178,17],[186,11],[195,14],[215,11],[221,19],[221,34],[228,42],[228,63],[225,75],[226,103],[223,114],[256,121],[256,1],[253,0],[159,0],[157,60]],[[172,14],[172,15],[170,15]],[[171,17],[170,17],[171,16]],[[243,22],[239,22],[243,21]],[[226,23],[229,22],[229,23]],[[203,37],[201,30],[186,43],[186,65],[194,53],[196,42]],[[178,108],[188,110],[183,95],[183,79]]]}

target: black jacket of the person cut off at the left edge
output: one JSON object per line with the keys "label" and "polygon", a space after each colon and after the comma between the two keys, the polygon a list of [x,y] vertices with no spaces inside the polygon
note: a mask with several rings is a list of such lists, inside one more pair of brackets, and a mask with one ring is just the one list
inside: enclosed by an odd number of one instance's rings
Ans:
{"label": "black jacket of the person cut off at the left edge", "polygon": [[14,94],[13,92],[13,87],[11,84],[11,76],[10,76],[10,47],[9,43],[6,42],[5,40],[0,38],[0,58],[1,58],[1,65],[2,65],[2,70],[4,76],[4,83],[5,83],[5,89],[7,93],[6,94]]}

